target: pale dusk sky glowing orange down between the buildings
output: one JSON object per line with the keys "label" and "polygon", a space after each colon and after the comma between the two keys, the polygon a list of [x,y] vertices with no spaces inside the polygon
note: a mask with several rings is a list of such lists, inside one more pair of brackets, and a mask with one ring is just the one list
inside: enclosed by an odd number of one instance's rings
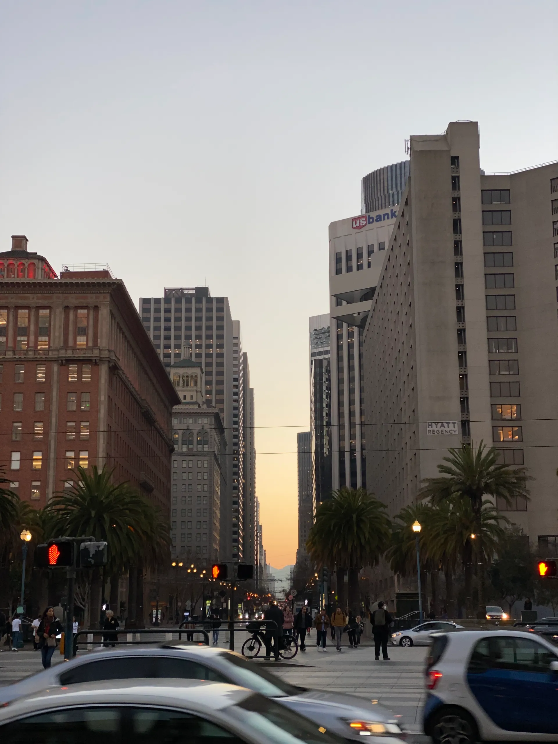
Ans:
{"label": "pale dusk sky glowing orange down between the buildings", "polygon": [[558,158],[556,0],[0,0],[0,246],[109,263],[132,299],[229,298],[268,562],[295,562],[308,318],[327,227],[409,135],[479,122],[481,165]]}

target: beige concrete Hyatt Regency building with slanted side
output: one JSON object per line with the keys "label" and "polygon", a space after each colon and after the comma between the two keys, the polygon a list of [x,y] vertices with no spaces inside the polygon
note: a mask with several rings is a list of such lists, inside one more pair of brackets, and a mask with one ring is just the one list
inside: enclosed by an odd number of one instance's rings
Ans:
{"label": "beige concrete Hyatt Regency building with slanted side", "polygon": [[558,162],[485,174],[472,121],[410,147],[364,330],[368,486],[393,515],[448,447],[484,440],[534,478],[498,508],[555,552]]}

